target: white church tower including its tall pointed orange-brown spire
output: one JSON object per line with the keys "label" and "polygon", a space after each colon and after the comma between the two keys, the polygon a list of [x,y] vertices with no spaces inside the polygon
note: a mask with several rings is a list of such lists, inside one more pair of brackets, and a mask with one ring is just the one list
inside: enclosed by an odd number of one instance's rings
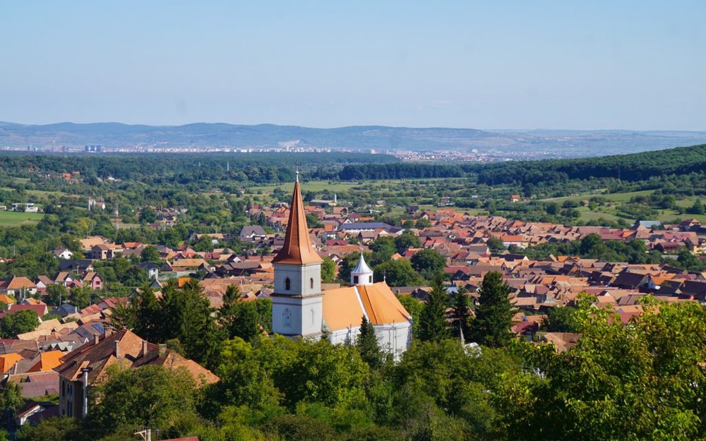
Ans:
{"label": "white church tower including its tall pointed orange-brown spire", "polygon": [[314,337],[321,334],[323,294],[321,258],[311,246],[299,173],[294,183],[285,244],[273,259],[272,330],[275,334]]}

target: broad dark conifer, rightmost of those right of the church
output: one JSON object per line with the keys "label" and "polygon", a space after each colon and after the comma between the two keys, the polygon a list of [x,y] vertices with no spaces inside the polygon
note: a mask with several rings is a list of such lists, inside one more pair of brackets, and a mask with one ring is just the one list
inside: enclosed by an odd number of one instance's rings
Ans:
{"label": "broad dark conifer, rightmost of those right of the church", "polygon": [[474,342],[496,348],[507,346],[513,340],[513,333],[510,332],[513,306],[509,294],[510,286],[503,281],[501,272],[491,271],[483,277],[476,317],[471,327]]}

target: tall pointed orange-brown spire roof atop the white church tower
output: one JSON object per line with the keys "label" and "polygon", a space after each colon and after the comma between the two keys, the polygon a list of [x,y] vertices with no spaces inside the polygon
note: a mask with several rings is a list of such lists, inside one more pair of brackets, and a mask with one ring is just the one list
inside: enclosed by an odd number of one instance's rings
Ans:
{"label": "tall pointed orange-brown spire roof atop the white church tower", "polygon": [[299,191],[299,173],[294,182],[292,207],[289,208],[289,222],[287,222],[287,235],[282,249],[272,260],[273,263],[292,263],[303,265],[306,263],[321,263],[323,260],[311,247],[309,240],[309,227],[306,226],[304,202]]}

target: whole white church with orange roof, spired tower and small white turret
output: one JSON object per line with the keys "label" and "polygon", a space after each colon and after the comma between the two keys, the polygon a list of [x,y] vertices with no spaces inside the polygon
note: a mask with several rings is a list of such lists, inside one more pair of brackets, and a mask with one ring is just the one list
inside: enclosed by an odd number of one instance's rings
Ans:
{"label": "whole white church with orange roof, spired tower and small white turret", "polygon": [[321,291],[322,262],[311,246],[297,174],[285,243],[273,259],[273,332],[304,338],[326,335],[332,344],[354,344],[365,316],[381,349],[398,360],[412,343],[412,316],[390,287],[373,283],[373,271],[361,253],[351,286]]}

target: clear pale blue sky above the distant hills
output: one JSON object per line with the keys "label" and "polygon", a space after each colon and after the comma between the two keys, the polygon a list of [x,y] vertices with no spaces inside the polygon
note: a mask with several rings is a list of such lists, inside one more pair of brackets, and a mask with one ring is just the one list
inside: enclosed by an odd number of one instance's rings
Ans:
{"label": "clear pale blue sky above the distant hills", "polygon": [[706,1],[0,0],[0,121],[706,130]]}

